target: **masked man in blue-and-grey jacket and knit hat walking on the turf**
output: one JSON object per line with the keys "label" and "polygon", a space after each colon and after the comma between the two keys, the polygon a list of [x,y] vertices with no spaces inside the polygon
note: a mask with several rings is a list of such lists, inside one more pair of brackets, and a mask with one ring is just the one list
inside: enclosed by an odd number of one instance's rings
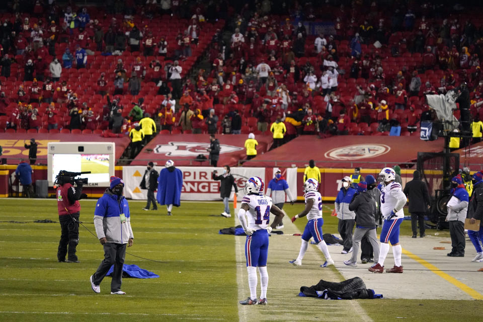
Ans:
{"label": "masked man in blue-and-grey jacket and knit hat walking on the turf", "polygon": [[91,278],[91,287],[100,293],[100,284],[114,265],[111,281],[111,294],[126,294],[121,291],[122,266],[126,255],[126,244],[132,246],[133,234],[129,204],[122,195],[124,182],[121,178],[111,177],[111,185],[97,201],[94,211],[94,226],[97,237],[104,246],[104,260]]}

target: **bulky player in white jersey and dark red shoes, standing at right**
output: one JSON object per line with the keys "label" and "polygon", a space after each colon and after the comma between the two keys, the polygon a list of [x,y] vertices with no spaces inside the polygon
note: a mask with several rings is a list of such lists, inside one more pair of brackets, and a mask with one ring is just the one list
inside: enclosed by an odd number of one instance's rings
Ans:
{"label": "bulky player in white jersey and dark red shoes, standing at right", "polygon": [[403,252],[399,244],[399,226],[404,219],[403,207],[406,204],[406,195],[403,193],[401,185],[395,182],[396,173],[392,168],[384,168],[379,173],[382,180],[381,189],[381,212],[384,218],[380,236],[381,248],[379,260],[369,271],[382,273],[384,271],[384,260],[389,252],[389,241],[392,245],[394,255],[394,267],[386,270],[387,273],[403,273],[401,266],[401,253]]}

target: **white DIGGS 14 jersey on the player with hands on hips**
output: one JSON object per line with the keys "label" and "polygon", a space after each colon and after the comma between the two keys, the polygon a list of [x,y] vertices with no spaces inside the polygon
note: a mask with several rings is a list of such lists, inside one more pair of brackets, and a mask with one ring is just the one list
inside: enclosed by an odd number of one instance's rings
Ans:
{"label": "white DIGGS 14 jersey on the player with hands on hips", "polygon": [[241,203],[246,203],[250,206],[250,209],[247,211],[249,228],[258,230],[268,227],[272,198],[266,195],[250,194],[243,196]]}

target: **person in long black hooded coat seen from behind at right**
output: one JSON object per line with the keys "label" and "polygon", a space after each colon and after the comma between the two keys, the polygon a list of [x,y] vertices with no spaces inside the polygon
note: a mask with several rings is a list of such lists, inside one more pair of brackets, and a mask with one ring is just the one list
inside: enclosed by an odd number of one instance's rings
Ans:
{"label": "person in long black hooded coat seen from behind at right", "polygon": [[424,237],[425,223],[424,216],[431,205],[431,199],[428,193],[426,183],[421,180],[421,173],[416,170],[413,172],[413,180],[406,183],[403,190],[409,200],[409,212],[411,213],[411,227],[413,229],[413,238],[417,236],[417,227],[419,223],[420,237]]}

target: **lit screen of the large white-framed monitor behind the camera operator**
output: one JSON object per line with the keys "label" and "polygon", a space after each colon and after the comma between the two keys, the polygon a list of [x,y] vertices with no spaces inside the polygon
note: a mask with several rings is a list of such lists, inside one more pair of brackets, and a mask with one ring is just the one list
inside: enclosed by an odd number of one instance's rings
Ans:
{"label": "lit screen of the large white-framed monitor behind the camera operator", "polygon": [[52,182],[59,171],[70,172],[90,171],[82,175],[89,183],[109,182],[109,154],[53,154]]}

